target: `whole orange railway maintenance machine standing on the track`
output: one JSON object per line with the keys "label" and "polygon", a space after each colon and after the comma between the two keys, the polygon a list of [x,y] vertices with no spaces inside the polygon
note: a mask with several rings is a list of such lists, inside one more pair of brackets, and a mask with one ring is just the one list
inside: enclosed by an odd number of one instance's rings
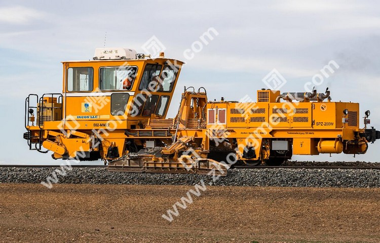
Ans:
{"label": "whole orange railway maintenance machine standing on the track", "polygon": [[[257,102],[208,102],[185,88],[166,114],[183,62],[128,48],[97,48],[63,62],[63,92],[25,101],[29,149],[54,159],[108,162],[110,171],[225,175],[229,166],[280,165],[294,155],[364,154],[380,138],[359,104],[325,93],[257,90]],[[226,163],[223,163],[226,162]]]}

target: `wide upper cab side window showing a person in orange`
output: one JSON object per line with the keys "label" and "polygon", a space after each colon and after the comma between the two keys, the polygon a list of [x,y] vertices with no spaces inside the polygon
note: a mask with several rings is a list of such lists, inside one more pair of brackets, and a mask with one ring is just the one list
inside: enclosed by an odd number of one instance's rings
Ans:
{"label": "wide upper cab side window showing a person in orange", "polygon": [[100,90],[131,90],[137,67],[100,68]]}

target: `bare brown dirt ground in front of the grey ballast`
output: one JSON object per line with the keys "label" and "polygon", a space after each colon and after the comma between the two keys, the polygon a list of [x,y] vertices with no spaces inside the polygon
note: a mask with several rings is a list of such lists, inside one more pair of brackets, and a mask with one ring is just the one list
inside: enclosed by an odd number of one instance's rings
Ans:
{"label": "bare brown dirt ground in front of the grey ballast", "polygon": [[380,242],[380,189],[0,184],[0,242]]}

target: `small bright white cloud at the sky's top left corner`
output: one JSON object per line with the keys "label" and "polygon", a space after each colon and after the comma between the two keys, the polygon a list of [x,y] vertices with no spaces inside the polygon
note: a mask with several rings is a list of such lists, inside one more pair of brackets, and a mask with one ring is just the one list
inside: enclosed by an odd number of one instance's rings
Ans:
{"label": "small bright white cloud at the sky's top left corner", "polygon": [[31,20],[41,19],[43,16],[40,11],[22,6],[0,8],[0,22],[28,24]]}

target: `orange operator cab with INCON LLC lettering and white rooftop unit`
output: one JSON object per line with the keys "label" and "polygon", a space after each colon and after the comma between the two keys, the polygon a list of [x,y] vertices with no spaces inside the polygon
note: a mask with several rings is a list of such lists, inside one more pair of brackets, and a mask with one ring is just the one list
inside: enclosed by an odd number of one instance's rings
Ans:
{"label": "orange operator cab with INCON LLC lettering and white rooftop unit", "polygon": [[93,121],[90,129],[110,120],[133,129],[138,121],[165,118],[182,65],[129,48],[96,48],[91,61],[63,62],[63,118],[69,126]]}

